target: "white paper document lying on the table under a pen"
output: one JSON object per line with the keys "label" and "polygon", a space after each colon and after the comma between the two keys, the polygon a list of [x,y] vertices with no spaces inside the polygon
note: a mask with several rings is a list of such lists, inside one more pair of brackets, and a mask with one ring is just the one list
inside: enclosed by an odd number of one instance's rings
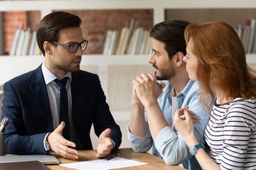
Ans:
{"label": "white paper document lying on the table under a pen", "polygon": [[115,157],[111,160],[98,159],[98,160],[89,160],[84,162],[76,163],[64,163],[60,164],[67,168],[74,168],[78,170],[91,169],[91,170],[107,170],[107,169],[116,169],[116,168],[125,168],[130,166],[139,166],[146,165],[148,163],[138,162],[136,160],[124,159],[122,157]]}

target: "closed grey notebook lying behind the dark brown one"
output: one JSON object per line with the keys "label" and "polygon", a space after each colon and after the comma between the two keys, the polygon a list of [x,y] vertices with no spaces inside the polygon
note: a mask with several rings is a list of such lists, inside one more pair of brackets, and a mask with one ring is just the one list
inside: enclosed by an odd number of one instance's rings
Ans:
{"label": "closed grey notebook lying behind the dark brown one", "polygon": [[58,159],[53,155],[48,154],[31,154],[31,155],[14,155],[14,156],[0,156],[0,163],[8,162],[26,162],[38,160],[45,165],[59,164]]}

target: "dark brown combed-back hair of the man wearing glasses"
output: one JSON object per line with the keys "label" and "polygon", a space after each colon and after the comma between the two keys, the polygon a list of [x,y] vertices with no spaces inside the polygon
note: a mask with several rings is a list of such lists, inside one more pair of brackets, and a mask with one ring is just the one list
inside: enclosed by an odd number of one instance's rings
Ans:
{"label": "dark brown combed-back hair of the man wearing glasses", "polygon": [[37,44],[43,56],[45,56],[45,50],[43,49],[43,43],[45,41],[49,41],[50,43],[57,42],[60,29],[77,27],[81,23],[80,17],[61,11],[53,12],[43,17],[39,25],[37,25],[36,33]]}

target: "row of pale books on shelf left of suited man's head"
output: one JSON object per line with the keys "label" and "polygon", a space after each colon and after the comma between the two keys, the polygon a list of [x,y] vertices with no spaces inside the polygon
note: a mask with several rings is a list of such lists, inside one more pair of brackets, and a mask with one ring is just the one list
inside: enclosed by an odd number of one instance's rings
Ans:
{"label": "row of pale books on shelf left of suited man's head", "polygon": [[31,31],[30,28],[24,30],[23,24],[21,24],[14,33],[9,55],[40,55],[40,49],[36,40],[36,31]]}

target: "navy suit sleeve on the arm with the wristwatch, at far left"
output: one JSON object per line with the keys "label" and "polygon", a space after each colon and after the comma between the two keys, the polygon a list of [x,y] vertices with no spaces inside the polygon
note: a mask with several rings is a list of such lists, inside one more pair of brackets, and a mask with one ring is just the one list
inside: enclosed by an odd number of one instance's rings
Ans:
{"label": "navy suit sleeve on the arm with the wristwatch, at far left", "polygon": [[[2,101],[2,118],[8,118],[5,129],[6,154],[47,154],[43,145],[46,133],[28,135],[24,123],[23,112],[19,93],[14,90],[10,82],[4,85],[4,99]],[[1,119],[2,119],[1,118]]]}

